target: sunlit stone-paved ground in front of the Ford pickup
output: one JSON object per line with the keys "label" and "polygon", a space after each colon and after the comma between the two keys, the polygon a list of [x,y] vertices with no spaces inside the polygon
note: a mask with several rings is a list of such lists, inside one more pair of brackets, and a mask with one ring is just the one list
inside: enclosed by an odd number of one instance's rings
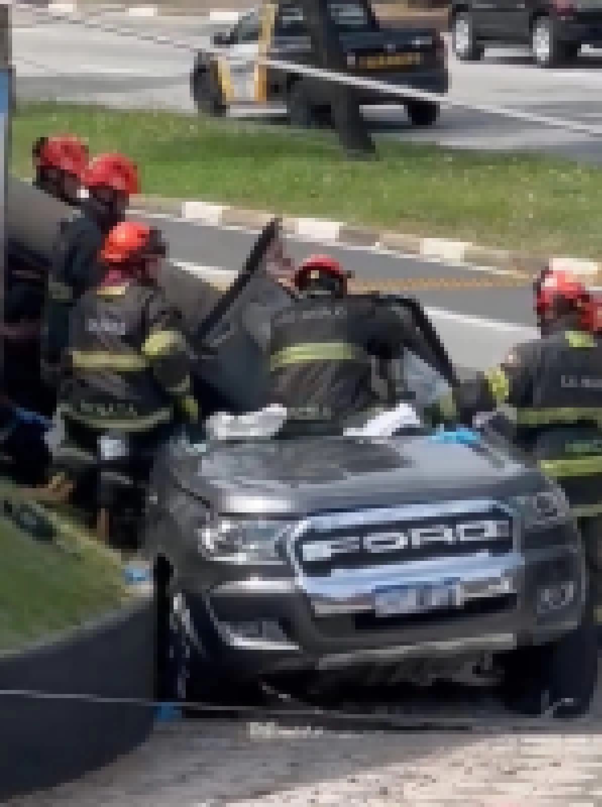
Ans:
{"label": "sunlit stone-paved ground in front of the Ford pickup", "polygon": [[[490,707],[487,707],[490,708]],[[469,701],[449,705],[466,714]],[[481,712],[482,713],[482,712]],[[598,807],[602,695],[581,721],[512,731],[367,734],[258,723],[164,724],[138,751],[10,807]]]}

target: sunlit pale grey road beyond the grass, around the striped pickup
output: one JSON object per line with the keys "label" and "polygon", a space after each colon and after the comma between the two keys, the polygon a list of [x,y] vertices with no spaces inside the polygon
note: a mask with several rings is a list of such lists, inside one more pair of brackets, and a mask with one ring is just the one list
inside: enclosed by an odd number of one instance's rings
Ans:
{"label": "sunlit pale grey road beyond the grass, around the striped pickup", "polygon": [[[40,22],[15,14],[14,59],[18,92],[29,97],[89,100],[116,107],[171,108],[193,111],[188,77],[190,52],[173,44],[136,40],[116,32],[86,29],[65,21]],[[132,19],[110,15],[102,23],[138,35],[207,43],[215,26],[201,18]],[[582,56],[569,69],[541,70],[516,52],[492,51],[477,65],[452,59],[450,97],[513,107],[591,124],[602,124],[602,61]],[[521,123],[464,109],[446,109],[437,126],[412,131],[403,111],[384,107],[370,113],[374,128],[386,136],[437,141],[462,148],[533,148],[602,161],[602,140],[573,135],[539,124]]]}

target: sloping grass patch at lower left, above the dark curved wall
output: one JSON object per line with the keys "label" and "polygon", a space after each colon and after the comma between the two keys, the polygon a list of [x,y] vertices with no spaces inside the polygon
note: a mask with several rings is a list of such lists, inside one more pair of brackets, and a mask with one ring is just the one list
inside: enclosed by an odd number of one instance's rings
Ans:
{"label": "sloping grass patch at lower left, above the dark curved wall", "polygon": [[0,653],[82,625],[130,598],[119,558],[65,523],[57,544],[0,518]]}

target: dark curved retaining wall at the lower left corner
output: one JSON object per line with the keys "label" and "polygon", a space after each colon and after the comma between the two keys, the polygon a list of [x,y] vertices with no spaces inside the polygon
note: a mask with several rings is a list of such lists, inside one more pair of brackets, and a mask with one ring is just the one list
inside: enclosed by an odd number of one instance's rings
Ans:
{"label": "dark curved retaining wall at the lower left corner", "polygon": [[[0,655],[0,800],[73,780],[132,751],[153,727],[152,597],[52,642]],[[64,699],[91,695],[101,700]]]}

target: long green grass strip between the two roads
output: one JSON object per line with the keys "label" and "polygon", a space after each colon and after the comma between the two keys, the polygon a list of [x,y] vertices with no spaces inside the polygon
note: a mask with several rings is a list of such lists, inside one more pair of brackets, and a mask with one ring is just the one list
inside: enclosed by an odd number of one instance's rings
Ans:
{"label": "long green grass strip between the two roads", "polygon": [[602,169],[559,158],[383,140],[378,161],[347,161],[328,133],[44,102],[15,112],[16,174],[31,175],[31,143],[52,132],[85,136],[93,153],[128,153],[148,195],[537,255],[602,256]]}

